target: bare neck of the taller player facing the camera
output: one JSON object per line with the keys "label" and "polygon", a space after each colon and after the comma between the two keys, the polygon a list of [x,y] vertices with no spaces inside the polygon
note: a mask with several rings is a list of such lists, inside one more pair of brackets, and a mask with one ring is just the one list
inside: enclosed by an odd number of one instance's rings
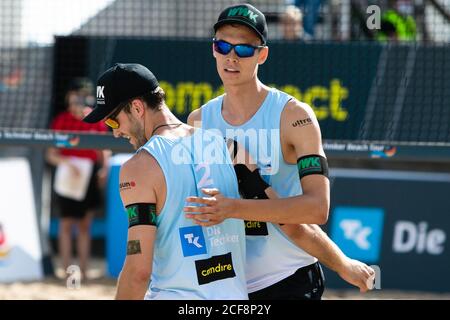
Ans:
{"label": "bare neck of the taller player facing the camera", "polygon": [[245,85],[224,86],[225,97],[222,116],[230,124],[242,125],[261,108],[269,92],[269,87],[256,79]]}

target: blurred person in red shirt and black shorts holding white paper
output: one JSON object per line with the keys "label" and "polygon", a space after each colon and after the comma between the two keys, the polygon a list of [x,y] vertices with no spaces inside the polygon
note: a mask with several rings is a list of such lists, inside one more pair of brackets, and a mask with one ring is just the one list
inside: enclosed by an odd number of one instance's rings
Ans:
{"label": "blurred person in red shirt and black shorts holding white paper", "polygon": [[[93,106],[92,82],[85,78],[72,81],[65,96],[66,110],[61,112],[51,123],[51,129],[69,131],[104,132],[107,128],[103,122],[88,124],[82,121],[86,108]],[[66,272],[72,264],[72,236],[76,235],[76,251],[79,257],[79,267],[82,277],[86,277],[91,248],[90,227],[94,211],[101,205],[101,188],[105,185],[107,176],[107,160],[109,152],[86,149],[56,149],[47,150],[47,161],[56,166],[55,200],[59,207],[58,251],[62,268]],[[87,165],[86,165],[87,163]],[[90,169],[90,170],[89,170]],[[58,172],[60,170],[60,172]],[[64,172],[64,173],[62,173]],[[63,176],[60,181],[57,176]],[[83,180],[86,183],[75,183]],[[71,185],[71,181],[73,184]],[[64,187],[58,184],[66,184]],[[80,185],[84,185],[85,195],[77,194]],[[70,192],[73,188],[73,194]],[[61,191],[64,190],[64,192]],[[69,189],[69,191],[68,191]],[[74,228],[76,227],[76,232]]]}

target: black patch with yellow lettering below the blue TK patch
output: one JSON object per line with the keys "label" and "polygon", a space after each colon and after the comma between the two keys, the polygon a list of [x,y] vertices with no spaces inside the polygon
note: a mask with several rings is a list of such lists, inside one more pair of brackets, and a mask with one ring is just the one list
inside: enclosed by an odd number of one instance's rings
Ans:
{"label": "black patch with yellow lettering below the blue TK patch", "polygon": [[195,269],[199,285],[236,276],[231,252],[205,260],[197,260]]}

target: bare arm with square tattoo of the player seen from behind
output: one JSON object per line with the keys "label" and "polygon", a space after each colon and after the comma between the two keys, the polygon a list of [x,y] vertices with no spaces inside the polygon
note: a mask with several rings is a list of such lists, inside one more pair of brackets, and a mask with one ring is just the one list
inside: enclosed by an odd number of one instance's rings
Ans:
{"label": "bare arm with square tattoo of the player seen from behind", "polygon": [[[158,170],[160,167],[146,152],[136,154],[122,166],[120,196],[124,206],[157,202],[155,179],[159,175],[155,172]],[[128,229],[127,255],[119,276],[116,299],[144,298],[152,272],[155,237],[154,225],[135,225]]]}

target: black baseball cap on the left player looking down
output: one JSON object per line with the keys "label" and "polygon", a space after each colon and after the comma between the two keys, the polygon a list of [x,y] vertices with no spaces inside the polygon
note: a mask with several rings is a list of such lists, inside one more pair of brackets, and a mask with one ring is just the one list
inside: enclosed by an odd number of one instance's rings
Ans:
{"label": "black baseball cap on the left player looking down", "polygon": [[83,121],[98,122],[119,104],[153,92],[158,87],[159,83],[156,77],[143,65],[116,63],[98,78],[95,108],[84,117]]}

